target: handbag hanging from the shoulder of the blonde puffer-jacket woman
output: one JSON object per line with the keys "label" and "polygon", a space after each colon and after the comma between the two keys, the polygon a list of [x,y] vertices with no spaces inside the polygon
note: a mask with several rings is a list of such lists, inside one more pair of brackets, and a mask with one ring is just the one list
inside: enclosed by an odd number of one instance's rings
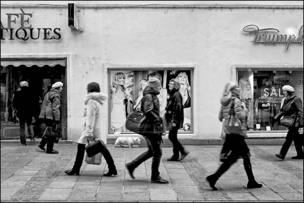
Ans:
{"label": "handbag hanging from the shoulder of the blonde puffer-jacket woman", "polygon": [[234,112],[234,100],[231,103],[231,108],[225,121],[224,128],[228,134],[240,135],[244,131],[244,125]]}

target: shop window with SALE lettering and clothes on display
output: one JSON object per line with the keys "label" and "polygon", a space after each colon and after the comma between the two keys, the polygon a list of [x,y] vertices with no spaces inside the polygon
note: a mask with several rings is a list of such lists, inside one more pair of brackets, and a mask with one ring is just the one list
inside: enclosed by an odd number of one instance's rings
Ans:
{"label": "shop window with SALE lettering and clothes on display", "polygon": [[303,70],[238,70],[237,80],[248,109],[247,130],[287,130],[280,120],[271,121],[283,105],[284,85],[292,86],[303,102]]}

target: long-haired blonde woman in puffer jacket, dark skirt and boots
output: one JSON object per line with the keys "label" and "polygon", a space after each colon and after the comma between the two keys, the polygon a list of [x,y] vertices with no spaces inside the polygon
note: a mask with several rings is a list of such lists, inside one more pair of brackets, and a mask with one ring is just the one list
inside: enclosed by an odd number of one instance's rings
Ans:
{"label": "long-haired blonde woman in puffer jacket, dark skirt and boots", "polygon": [[234,112],[238,119],[243,123],[242,132],[239,134],[229,134],[227,129],[226,139],[223,145],[220,161],[224,162],[216,171],[215,174],[212,174],[206,177],[206,180],[209,182],[210,187],[213,190],[217,190],[215,187],[216,181],[221,175],[223,175],[233,163],[239,158],[244,160],[244,168],[248,177],[247,188],[261,188],[263,185],[258,184],[253,176],[251,164],[250,164],[250,152],[247,144],[245,143],[246,135],[246,118],[247,118],[247,108],[243,102],[240,100],[240,88],[236,81],[232,81],[226,84],[223,98],[221,99],[221,110],[219,112],[219,120],[222,122],[223,119],[227,119],[231,105],[234,103]]}

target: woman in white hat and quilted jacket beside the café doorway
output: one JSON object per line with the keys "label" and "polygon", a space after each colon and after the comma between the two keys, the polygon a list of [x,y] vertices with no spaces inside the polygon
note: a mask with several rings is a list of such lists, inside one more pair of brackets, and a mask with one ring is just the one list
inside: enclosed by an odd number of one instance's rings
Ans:
{"label": "woman in white hat and quilted jacket beside the caf\u00e9 doorway", "polygon": [[[60,123],[60,109],[61,109],[61,91],[62,91],[62,82],[55,82],[52,85],[51,90],[47,93],[48,96],[44,97],[47,99],[46,102],[43,102],[41,106],[41,111],[39,118],[43,119],[43,122],[46,126],[54,126]],[[38,150],[45,151],[44,146],[47,143],[48,154],[57,154],[58,151],[53,149],[54,141],[53,139],[48,139],[42,137],[40,144],[38,145]]]}

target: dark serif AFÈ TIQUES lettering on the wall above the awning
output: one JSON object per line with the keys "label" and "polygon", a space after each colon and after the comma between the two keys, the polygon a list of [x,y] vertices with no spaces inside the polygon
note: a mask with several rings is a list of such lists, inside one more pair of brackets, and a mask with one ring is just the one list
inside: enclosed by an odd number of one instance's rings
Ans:
{"label": "dark serif AF\u00c8 TIQUES lettering on the wall above the awning", "polygon": [[[60,28],[54,28],[53,33],[50,33],[52,31],[52,28],[37,28],[38,33],[35,32],[34,37],[34,28],[32,28],[32,25],[24,25],[24,23],[29,24],[29,18],[32,18],[31,13],[25,13],[22,9],[21,13],[6,13],[7,15],[7,28],[5,28],[2,24],[1,19],[1,40],[5,40],[3,37],[3,31],[5,30],[9,34],[9,40],[29,40],[31,38],[32,40],[37,40],[40,38],[40,29],[43,29],[43,40],[59,40],[61,38],[61,35],[58,31],[60,31]],[[16,16],[15,19],[12,20],[12,15]],[[16,24],[16,19],[20,16],[20,27],[18,29],[12,28],[12,22]],[[27,19],[25,20],[25,16]],[[27,26],[27,27],[25,27]]]}

